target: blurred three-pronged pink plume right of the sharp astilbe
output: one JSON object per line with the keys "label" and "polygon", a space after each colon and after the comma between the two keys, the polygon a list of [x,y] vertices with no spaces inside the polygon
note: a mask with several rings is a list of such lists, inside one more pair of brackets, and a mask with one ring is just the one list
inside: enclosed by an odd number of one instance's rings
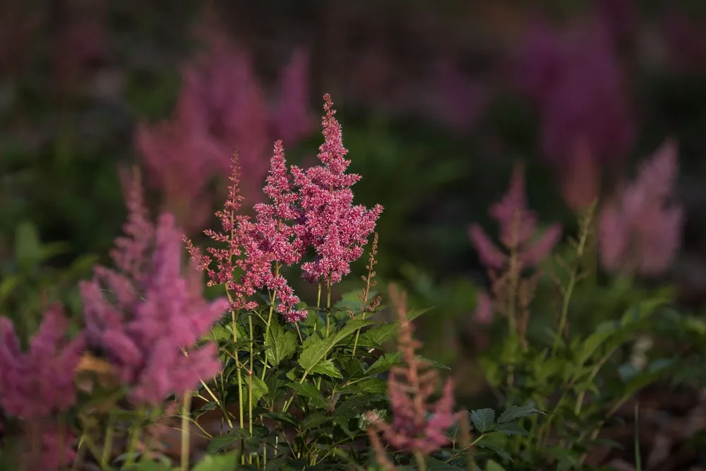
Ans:
{"label": "blurred three-pronged pink plume right of the sharp astilbe", "polygon": [[[536,266],[561,237],[561,226],[557,224],[551,225],[544,234],[537,237],[537,215],[527,209],[522,167],[515,167],[508,193],[491,206],[489,213],[500,226],[501,243],[507,251],[517,255],[517,261],[522,266]],[[484,265],[493,270],[507,268],[509,256],[493,244],[479,225],[471,225],[469,236]]]}

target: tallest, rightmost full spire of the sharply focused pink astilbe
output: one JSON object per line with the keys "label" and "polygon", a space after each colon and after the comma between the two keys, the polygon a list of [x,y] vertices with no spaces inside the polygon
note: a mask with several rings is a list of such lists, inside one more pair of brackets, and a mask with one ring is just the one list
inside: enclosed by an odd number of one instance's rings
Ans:
{"label": "tallest, rightmost full spire of the sharply focused pink astilbe", "polygon": [[367,209],[353,205],[351,186],[361,177],[348,174],[350,160],[343,147],[341,126],[335,119],[330,95],[324,95],[324,143],[318,159],[323,165],[303,170],[292,166],[294,184],[299,187],[301,222],[294,226],[297,249],[309,247],[316,253],[314,261],[302,263],[304,278],[336,283],[350,273],[350,264],[363,254],[363,246],[375,229],[383,207]]}

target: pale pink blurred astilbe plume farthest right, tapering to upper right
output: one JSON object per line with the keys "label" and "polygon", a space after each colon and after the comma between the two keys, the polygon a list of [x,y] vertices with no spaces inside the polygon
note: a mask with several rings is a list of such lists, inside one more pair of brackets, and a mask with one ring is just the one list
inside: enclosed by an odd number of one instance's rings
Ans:
{"label": "pale pink blurred astilbe plume farthest right, tapering to upper right", "polygon": [[610,271],[659,275],[679,248],[683,211],[673,203],[677,146],[666,141],[633,183],[607,201],[599,216],[599,254]]}

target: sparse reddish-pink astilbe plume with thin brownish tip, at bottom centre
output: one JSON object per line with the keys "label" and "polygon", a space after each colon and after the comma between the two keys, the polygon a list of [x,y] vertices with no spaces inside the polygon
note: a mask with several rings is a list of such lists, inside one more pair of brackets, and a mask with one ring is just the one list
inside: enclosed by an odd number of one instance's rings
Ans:
{"label": "sparse reddish-pink astilbe plume with thin brownish tip, at bottom centre", "polygon": [[405,366],[390,371],[388,394],[393,422],[388,424],[378,417],[372,420],[369,434],[380,433],[390,446],[400,451],[421,452],[425,455],[448,444],[446,430],[456,423],[453,412],[453,381],[449,378],[436,403],[431,395],[438,385],[438,372],[419,360],[415,350],[421,345],[412,336],[414,330],[407,318],[407,302],[404,293],[390,286],[390,298],[395,304],[400,321],[398,347]]}

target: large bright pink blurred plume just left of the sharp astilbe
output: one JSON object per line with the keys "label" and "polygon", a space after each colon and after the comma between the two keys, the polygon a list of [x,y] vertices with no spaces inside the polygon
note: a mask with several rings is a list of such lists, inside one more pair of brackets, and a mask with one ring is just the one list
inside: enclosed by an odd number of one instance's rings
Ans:
{"label": "large bright pink blurred plume just left of the sharp astilbe", "polygon": [[[193,345],[222,316],[228,302],[203,299],[195,269],[181,276],[182,234],[174,216],[164,213],[156,227],[148,227],[132,212],[141,207],[140,201],[128,207],[125,230],[131,237],[119,239],[114,251],[118,270],[96,267],[93,280],[80,284],[85,328],[90,345],[107,352],[116,374],[130,386],[131,401],[159,405],[169,393],[186,393],[199,379],[219,371],[215,345]],[[136,221],[145,233],[131,229]],[[150,250],[143,251],[147,240]],[[138,253],[143,254],[142,268],[124,270],[128,254]]]}

